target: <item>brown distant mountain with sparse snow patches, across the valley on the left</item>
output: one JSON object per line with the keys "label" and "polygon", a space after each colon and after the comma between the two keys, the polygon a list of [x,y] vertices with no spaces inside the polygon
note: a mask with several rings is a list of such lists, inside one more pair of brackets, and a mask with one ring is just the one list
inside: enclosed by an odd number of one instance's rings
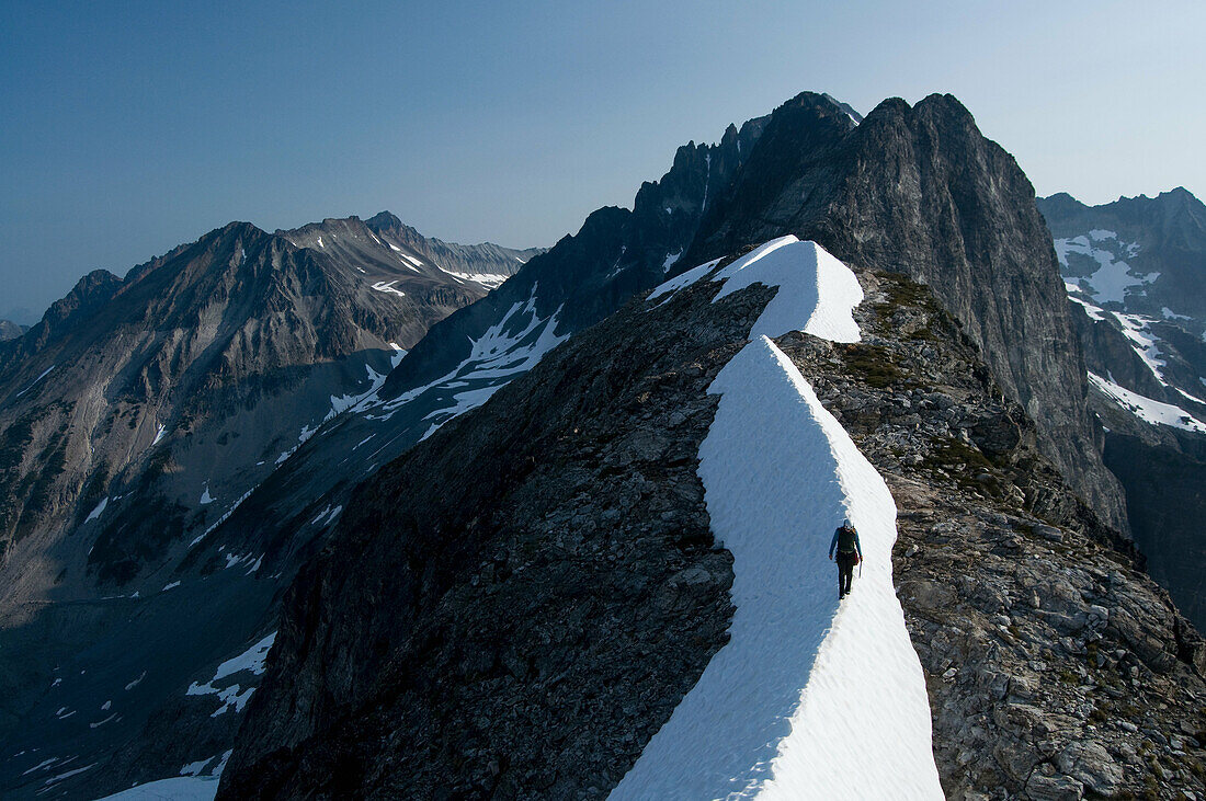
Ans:
{"label": "brown distant mountain with sparse snow patches, across the valley on the left", "polygon": [[[89,273],[0,343],[0,642],[12,666],[0,676],[0,741],[112,753],[142,731],[191,681],[189,654],[204,662],[242,636],[224,617],[236,597],[223,613],[221,591],[176,589],[188,543],[338,399],[379,385],[432,323],[538,253],[427,240],[388,213],[373,220],[277,234],[232,223],[124,279]],[[270,597],[253,566],[242,565],[252,594]],[[154,591],[164,602],[145,624],[129,620],[125,599]],[[188,612],[198,608],[204,620]],[[154,634],[185,622],[187,642]],[[47,626],[59,636],[36,634]],[[63,696],[43,700],[43,678],[81,661],[101,684],[123,664],[134,671],[123,684],[150,670],[101,715],[104,729],[82,714],[60,723],[101,691],[88,673],[64,675]],[[42,714],[43,702],[58,706]],[[221,741],[233,731],[211,728]]]}

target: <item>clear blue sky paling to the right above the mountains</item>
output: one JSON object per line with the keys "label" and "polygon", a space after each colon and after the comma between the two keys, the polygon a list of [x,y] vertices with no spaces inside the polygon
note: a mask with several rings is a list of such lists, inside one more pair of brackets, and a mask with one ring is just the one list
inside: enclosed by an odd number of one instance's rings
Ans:
{"label": "clear blue sky paling to the right above the mountains", "polygon": [[1206,4],[0,0],[0,317],[232,219],[551,245],[813,89],[950,92],[1040,194],[1184,185]]}

